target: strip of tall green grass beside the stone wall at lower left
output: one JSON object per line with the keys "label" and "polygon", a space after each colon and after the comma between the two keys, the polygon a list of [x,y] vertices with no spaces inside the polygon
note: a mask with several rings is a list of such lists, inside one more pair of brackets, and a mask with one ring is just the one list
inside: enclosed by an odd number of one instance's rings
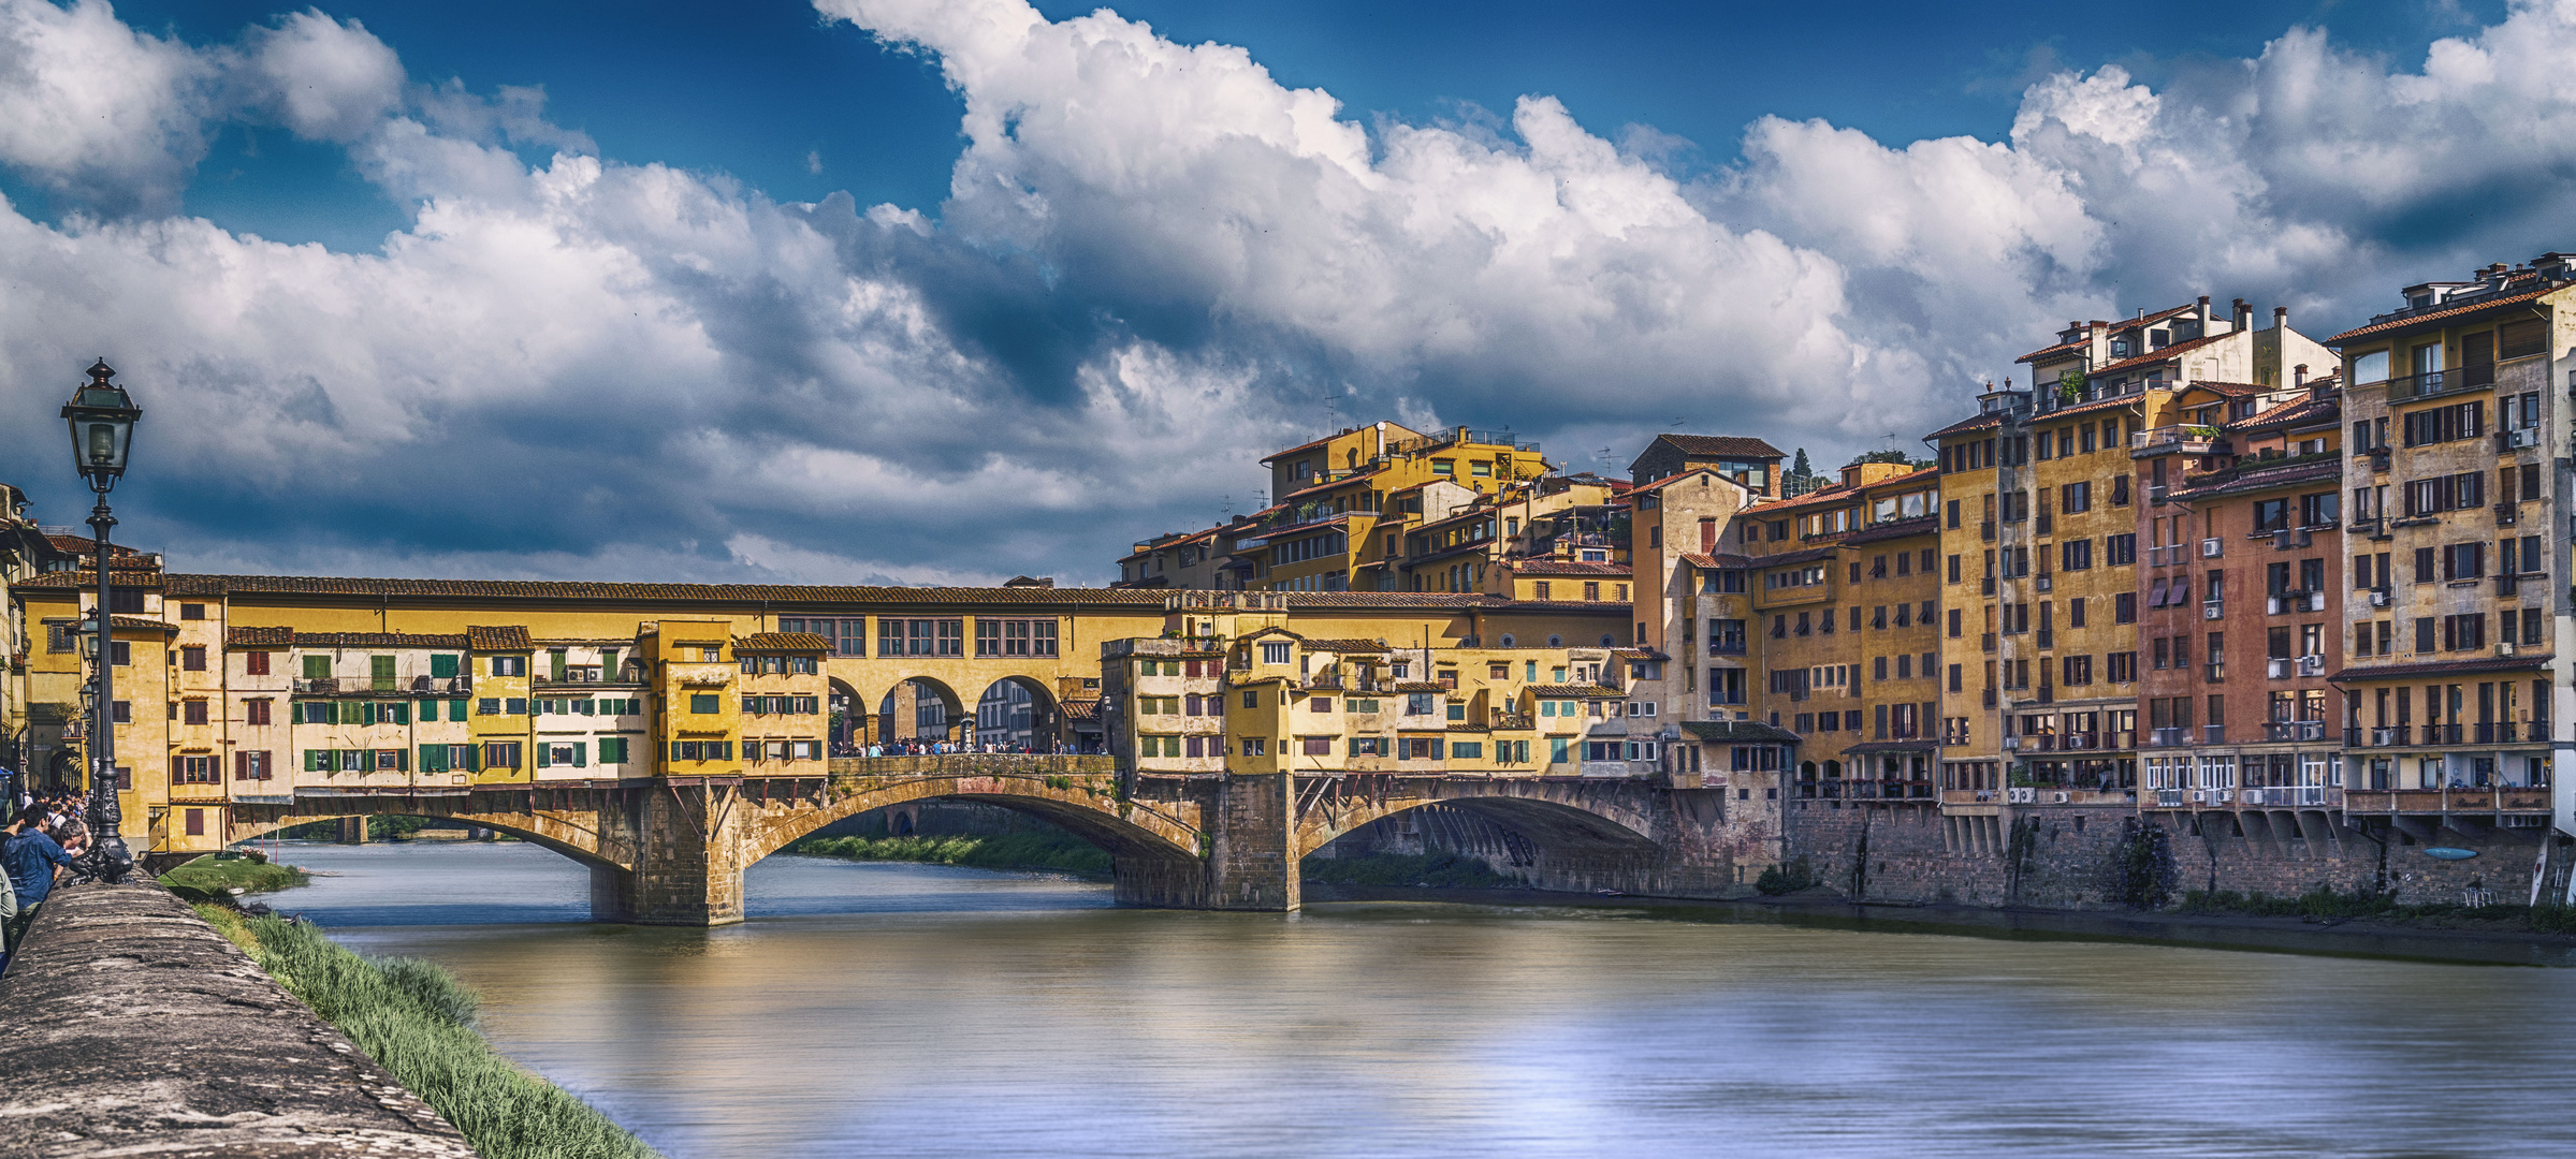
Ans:
{"label": "strip of tall green grass beside the stone wall at lower left", "polygon": [[289,994],[340,1028],[484,1159],[659,1159],[572,1092],[474,1033],[474,992],[420,958],[361,958],[312,925],[198,904]]}

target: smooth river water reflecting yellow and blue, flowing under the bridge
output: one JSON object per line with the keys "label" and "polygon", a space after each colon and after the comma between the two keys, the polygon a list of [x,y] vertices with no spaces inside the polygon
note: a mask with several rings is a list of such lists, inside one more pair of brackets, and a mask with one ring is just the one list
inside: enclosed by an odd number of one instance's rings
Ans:
{"label": "smooth river water reflecting yellow and blue, flowing under the bridge", "polygon": [[1113,909],[770,858],[750,922],[587,925],[528,845],[291,845],[672,1159],[2576,1154],[2576,971],[1705,922]]}

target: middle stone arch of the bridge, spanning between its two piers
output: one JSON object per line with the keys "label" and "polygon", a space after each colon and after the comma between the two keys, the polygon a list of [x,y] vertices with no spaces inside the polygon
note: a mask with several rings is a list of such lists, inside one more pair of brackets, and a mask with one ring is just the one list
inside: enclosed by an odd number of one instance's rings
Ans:
{"label": "middle stone arch of the bridge, spanning between its two piers", "polygon": [[[835,796],[757,824],[742,842],[742,865],[778,853],[814,829],[873,809],[914,801],[971,801],[1036,816],[1072,832],[1131,868],[1195,868],[1206,837],[1167,809],[1118,801],[1110,775],[933,775]],[[1133,865],[1131,865],[1133,863]]]}

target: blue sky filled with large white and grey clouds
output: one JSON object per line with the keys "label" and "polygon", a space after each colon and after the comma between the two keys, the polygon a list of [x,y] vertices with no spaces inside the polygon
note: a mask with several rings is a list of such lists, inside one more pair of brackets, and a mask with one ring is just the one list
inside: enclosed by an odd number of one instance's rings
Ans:
{"label": "blue sky filled with large white and grey clouds", "polygon": [[0,479],[106,355],[183,569],[1103,582],[1334,412],[1839,464],[2576,247],[2576,0],[1726,8],[0,0]]}

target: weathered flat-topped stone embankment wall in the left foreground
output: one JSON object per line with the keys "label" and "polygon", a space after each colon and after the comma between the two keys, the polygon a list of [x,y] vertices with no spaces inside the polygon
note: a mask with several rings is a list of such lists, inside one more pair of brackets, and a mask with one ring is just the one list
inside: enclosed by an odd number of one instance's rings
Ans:
{"label": "weathered flat-topped stone embankment wall in the left foreground", "polygon": [[152,883],[54,891],[0,976],[0,1131],[31,1156],[471,1156]]}

